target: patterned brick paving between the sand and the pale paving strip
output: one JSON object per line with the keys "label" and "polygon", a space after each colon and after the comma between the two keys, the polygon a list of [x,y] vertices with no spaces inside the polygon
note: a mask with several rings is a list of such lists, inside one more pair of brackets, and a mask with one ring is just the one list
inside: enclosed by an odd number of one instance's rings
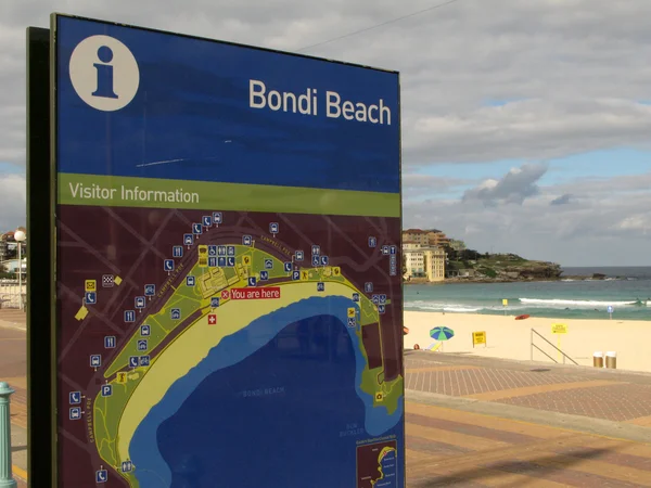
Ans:
{"label": "patterned brick paving between the sand and the pale paving strip", "polygon": [[438,352],[405,362],[407,389],[640,425],[651,418],[651,375]]}

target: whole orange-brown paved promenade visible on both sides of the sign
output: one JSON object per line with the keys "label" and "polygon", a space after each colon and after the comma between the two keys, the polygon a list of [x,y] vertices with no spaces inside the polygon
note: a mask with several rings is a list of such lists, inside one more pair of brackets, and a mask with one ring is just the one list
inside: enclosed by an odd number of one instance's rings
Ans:
{"label": "whole orange-brown paved promenade visible on both sides of the sign", "polygon": [[[0,310],[23,479],[24,317]],[[427,351],[405,362],[409,488],[651,487],[651,375]]]}

